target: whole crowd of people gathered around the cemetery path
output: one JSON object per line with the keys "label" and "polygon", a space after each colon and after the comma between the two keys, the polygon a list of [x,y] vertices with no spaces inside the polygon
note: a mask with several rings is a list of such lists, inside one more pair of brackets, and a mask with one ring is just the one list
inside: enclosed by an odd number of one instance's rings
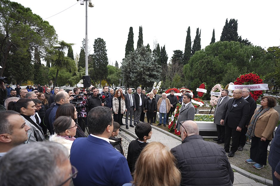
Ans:
{"label": "whole crowd of people gathered around the cemetery path", "polygon": [[[250,89],[234,90],[233,99],[223,89],[214,112],[218,132],[214,141],[224,143],[222,148],[199,135],[192,96],[186,92],[178,100],[174,91],[160,97],[156,89],[146,95],[141,87],[134,94],[131,88],[123,94],[121,88],[104,86],[99,93],[92,86],[80,94],[79,88],[21,89],[18,85],[13,90],[0,83],[0,186],[232,185],[228,157],[251,140],[246,162],[263,168],[279,119],[273,97],[262,97],[261,107],[256,108]],[[169,151],[160,142],[148,143],[157,112],[158,126],[165,127],[177,103],[182,104],[176,124],[182,144]],[[138,137],[130,142],[127,158],[118,138],[120,125],[135,127]],[[277,130],[268,158],[276,185],[280,183],[279,144]]]}

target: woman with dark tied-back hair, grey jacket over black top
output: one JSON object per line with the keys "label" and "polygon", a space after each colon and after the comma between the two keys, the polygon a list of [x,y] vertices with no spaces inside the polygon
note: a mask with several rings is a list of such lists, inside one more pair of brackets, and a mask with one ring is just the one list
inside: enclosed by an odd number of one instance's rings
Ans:
{"label": "woman with dark tied-back hair, grey jacket over black top", "polygon": [[8,110],[20,113],[21,117],[25,121],[25,124],[30,127],[28,130],[28,135],[30,135],[29,142],[45,140],[42,128],[30,118],[30,116],[35,115],[36,110],[35,103],[32,100],[21,98],[17,102],[10,102],[8,104]]}

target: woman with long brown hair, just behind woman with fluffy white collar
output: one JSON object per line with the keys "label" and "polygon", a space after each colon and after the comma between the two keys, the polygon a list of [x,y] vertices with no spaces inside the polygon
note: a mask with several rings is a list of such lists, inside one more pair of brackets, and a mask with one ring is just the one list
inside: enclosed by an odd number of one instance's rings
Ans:
{"label": "woman with long brown hair, just behind woman with fluffy white collar", "polygon": [[[74,104],[71,103],[62,104],[57,108],[55,120],[59,116],[70,116],[75,122],[77,122],[77,118],[78,118],[77,114],[78,112]],[[74,137],[75,138],[85,137],[85,133],[80,128],[80,126],[77,127],[77,132]]]}

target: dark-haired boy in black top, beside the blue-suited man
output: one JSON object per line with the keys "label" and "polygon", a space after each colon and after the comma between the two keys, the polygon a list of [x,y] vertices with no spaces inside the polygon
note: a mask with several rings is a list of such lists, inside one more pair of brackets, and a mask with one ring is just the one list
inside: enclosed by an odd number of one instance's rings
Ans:
{"label": "dark-haired boy in black top, beside the blue-suited man", "polygon": [[134,171],[136,160],[141,151],[148,144],[147,140],[151,139],[152,127],[149,123],[140,122],[135,127],[135,134],[138,138],[130,142],[127,151],[127,163],[131,173]]}

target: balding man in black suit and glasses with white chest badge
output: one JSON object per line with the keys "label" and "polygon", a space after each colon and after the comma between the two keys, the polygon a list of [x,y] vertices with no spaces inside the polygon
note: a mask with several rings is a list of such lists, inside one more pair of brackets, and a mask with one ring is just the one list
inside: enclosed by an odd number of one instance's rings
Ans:
{"label": "balding man in black suit and glasses with white chest badge", "polygon": [[[242,128],[248,119],[249,103],[242,98],[242,89],[233,91],[233,98],[227,103],[226,110],[223,112],[221,124],[225,125],[225,152],[228,152],[228,157],[234,157],[234,153],[238,149],[239,137]],[[229,144],[232,137],[232,146],[229,149]]]}

